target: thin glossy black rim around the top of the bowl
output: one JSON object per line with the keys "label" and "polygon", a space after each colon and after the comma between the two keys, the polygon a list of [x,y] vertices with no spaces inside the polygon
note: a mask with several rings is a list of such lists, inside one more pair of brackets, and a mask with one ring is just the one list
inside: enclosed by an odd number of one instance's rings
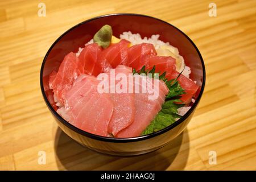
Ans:
{"label": "thin glossy black rim around the top of the bowl", "polygon": [[[49,103],[48,101],[48,98],[46,97],[46,93],[44,92],[44,87],[43,87],[43,69],[44,69],[44,64],[46,63],[46,59],[49,55],[49,52],[51,52],[52,48],[55,46],[55,44],[57,42],[59,42],[59,40],[61,38],[63,38],[64,35],[68,34],[68,32],[70,32],[71,30],[73,30],[74,28],[76,27],[79,27],[81,24],[84,24],[84,23],[87,23],[87,22],[90,22],[92,20],[95,20],[95,19],[98,19],[98,18],[103,18],[105,16],[122,16],[122,15],[131,15],[131,16],[144,16],[144,17],[147,17],[147,18],[153,18],[155,20],[158,20],[160,22],[163,22],[163,23],[166,23],[168,24],[169,26],[172,26],[174,28],[176,28],[176,30],[180,31],[181,34],[183,34],[185,36],[185,38],[187,38],[189,40],[189,42],[191,42],[192,46],[195,47],[197,53],[199,54],[199,57],[200,57],[200,60],[201,60],[201,64],[202,64],[202,68],[203,68],[203,82],[202,82],[202,86],[201,86],[201,90],[200,90],[200,93],[195,101],[195,103],[192,105],[192,107],[187,111],[187,113],[185,113],[183,115],[183,117],[181,117],[179,120],[177,120],[175,123],[173,123],[172,125],[170,126],[167,126],[166,128],[162,129],[162,130],[159,130],[159,131],[156,131],[155,133],[152,133],[152,134],[148,134],[148,135],[143,135],[143,136],[139,136],[139,137],[133,137],[133,138],[110,138],[110,137],[102,137],[100,135],[95,135],[95,134],[92,134],[92,133],[88,133],[84,130],[81,130],[79,128],[77,128],[76,126],[73,126],[71,125],[71,123],[65,121],[65,119],[63,119],[54,109],[53,107],[51,106],[51,104]],[[127,142],[137,142],[137,141],[140,141],[140,140],[145,140],[145,139],[149,139],[149,138],[152,138],[152,137],[155,137],[157,135],[160,135],[160,134],[163,134],[163,133],[166,133],[167,131],[173,129],[174,127],[176,127],[177,125],[179,125],[180,123],[182,123],[183,121],[185,121],[185,119],[188,118],[188,116],[190,114],[192,114],[193,110],[195,110],[197,104],[199,104],[199,101],[200,101],[200,98],[203,94],[203,91],[204,91],[204,86],[205,86],[205,65],[204,65],[204,61],[203,61],[203,57],[201,56],[201,53],[199,51],[199,49],[196,47],[195,43],[193,43],[193,41],[181,30],[179,30],[179,28],[173,26],[172,24],[168,23],[168,22],[165,22],[164,20],[161,20],[161,19],[158,19],[158,18],[155,18],[155,17],[152,17],[152,16],[148,16],[148,15],[143,15],[143,14],[134,14],[134,13],[114,13],[114,14],[106,14],[106,15],[101,15],[101,16],[96,16],[94,18],[91,18],[91,19],[88,19],[88,20],[85,20],[84,22],[81,22],[79,24],[76,24],[75,26],[73,26],[72,28],[69,28],[69,30],[65,31],[64,34],[62,34],[59,38],[57,38],[55,40],[55,42],[52,44],[52,46],[48,49],[47,53],[46,53],[46,56],[44,56],[44,59],[43,59],[43,63],[42,63],[42,66],[41,66],[41,69],[40,69],[40,88],[41,88],[41,92],[43,94],[43,98],[44,98],[44,101],[46,102],[46,105],[47,107],[49,108],[49,110],[51,111],[51,113],[57,118],[59,119],[60,122],[62,122],[65,126],[67,126],[69,129],[75,131],[76,133],[79,133],[81,135],[84,135],[85,137],[89,137],[89,138],[92,138],[92,139],[96,139],[96,140],[101,140],[101,141],[105,141],[105,142],[115,142],[115,143],[127,143]]]}

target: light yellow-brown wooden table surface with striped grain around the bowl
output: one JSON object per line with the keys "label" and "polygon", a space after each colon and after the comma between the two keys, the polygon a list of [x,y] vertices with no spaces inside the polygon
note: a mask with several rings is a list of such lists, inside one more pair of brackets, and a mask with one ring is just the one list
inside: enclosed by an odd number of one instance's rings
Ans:
{"label": "light yellow-brown wooden table surface with striped grain around the bowl", "polygon": [[[0,169],[256,169],[256,1],[0,1]],[[208,15],[209,3],[217,16]],[[200,49],[207,84],[187,129],[166,147],[134,158],[92,152],[67,137],[49,113],[39,69],[68,28],[109,13],[155,16]],[[40,152],[46,164],[40,164]],[[216,152],[217,164],[209,163]],[[211,154],[211,153],[210,153]],[[39,162],[39,163],[38,163]]]}

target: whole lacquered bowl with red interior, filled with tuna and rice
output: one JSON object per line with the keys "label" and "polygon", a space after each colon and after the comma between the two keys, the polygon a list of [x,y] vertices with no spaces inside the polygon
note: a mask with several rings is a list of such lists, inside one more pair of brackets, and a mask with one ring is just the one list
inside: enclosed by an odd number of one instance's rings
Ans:
{"label": "whole lacquered bowl with red interior, filled with tuna and rice", "polygon": [[40,71],[44,101],[60,129],[118,156],[155,151],[176,138],[204,85],[203,58],[192,40],[140,14],[77,24],[52,44]]}

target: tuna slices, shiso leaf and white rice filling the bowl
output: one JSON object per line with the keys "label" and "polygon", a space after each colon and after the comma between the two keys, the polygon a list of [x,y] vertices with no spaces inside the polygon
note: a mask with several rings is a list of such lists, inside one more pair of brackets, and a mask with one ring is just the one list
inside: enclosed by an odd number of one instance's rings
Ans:
{"label": "tuna slices, shiso leaf and white rice filling the bowl", "polygon": [[[158,89],[158,97],[152,101],[148,93],[99,93],[98,78],[112,72],[133,80],[121,84],[127,88],[138,85],[142,89],[142,82],[135,79],[152,78],[147,83]],[[131,138],[162,130],[191,108],[199,86],[189,79],[190,73],[179,50],[159,40],[159,35],[141,38],[127,31],[119,38],[111,34],[102,42],[94,38],[66,55],[59,69],[49,75],[49,88],[57,113],[72,125],[104,137]]]}

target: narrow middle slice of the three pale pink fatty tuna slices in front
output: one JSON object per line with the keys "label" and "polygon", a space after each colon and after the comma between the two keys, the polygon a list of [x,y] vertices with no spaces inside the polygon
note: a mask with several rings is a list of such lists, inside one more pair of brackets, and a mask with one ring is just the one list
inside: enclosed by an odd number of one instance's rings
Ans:
{"label": "narrow middle slice of the three pale pink fatty tuna slices in front", "polygon": [[[134,121],[135,117],[135,105],[134,105],[134,93],[129,93],[129,74],[132,76],[132,71],[130,67],[126,67],[124,65],[118,65],[117,68],[112,69],[110,73],[108,74],[110,78],[110,74],[112,71],[115,71],[114,76],[118,76],[119,73],[122,73],[125,77],[126,85],[118,85],[118,88],[122,88],[125,90],[125,93],[120,93],[118,90],[115,90],[115,93],[110,93],[109,95],[110,99],[112,100],[112,103],[114,105],[113,115],[109,122],[108,126],[108,132],[112,135],[117,135],[117,133],[123,129],[125,129],[127,126],[131,125],[131,123]],[[100,76],[100,75],[99,75]],[[111,83],[111,81],[109,81]],[[114,88],[117,88],[117,84],[121,83],[121,80],[115,80],[114,85],[110,85],[110,87],[114,86]],[[133,84],[131,82],[130,84]],[[131,85],[132,86],[132,85]]]}

